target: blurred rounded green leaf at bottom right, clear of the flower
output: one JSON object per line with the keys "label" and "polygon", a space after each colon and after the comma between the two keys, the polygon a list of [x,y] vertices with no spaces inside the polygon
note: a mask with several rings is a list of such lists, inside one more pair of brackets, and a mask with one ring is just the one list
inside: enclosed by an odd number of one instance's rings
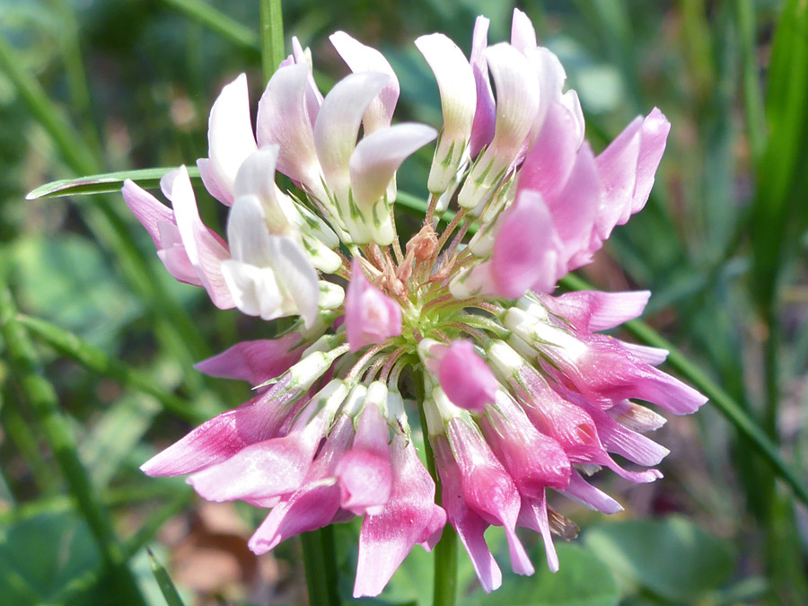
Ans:
{"label": "blurred rounded green leaf at bottom right, clear of the flower", "polygon": [[628,584],[674,602],[694,603],[733,574],[731,545],[679,515],[589,528],[584,543]]}

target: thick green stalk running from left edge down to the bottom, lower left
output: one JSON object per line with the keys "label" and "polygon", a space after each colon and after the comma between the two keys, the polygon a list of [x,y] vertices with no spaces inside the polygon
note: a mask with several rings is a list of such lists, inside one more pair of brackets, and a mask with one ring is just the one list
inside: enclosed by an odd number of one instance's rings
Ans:
{"label": "thick green stalk running from left edge down to the bottom, lower left", "polygon": [[22,325],[16,320],[11,291],[0,277],[0,334],[3,335],[14,380],[25,394],[42,433],[65,476],[79,511],[98,543],[104,561],[115,580],[120,603],[145,604],[135,576],[123,558],[123,550],[112,528],[109,514],[92,486],[78,457],[78,446],[67,419],[59,410],[57,393],[42,373],[39,356]]}

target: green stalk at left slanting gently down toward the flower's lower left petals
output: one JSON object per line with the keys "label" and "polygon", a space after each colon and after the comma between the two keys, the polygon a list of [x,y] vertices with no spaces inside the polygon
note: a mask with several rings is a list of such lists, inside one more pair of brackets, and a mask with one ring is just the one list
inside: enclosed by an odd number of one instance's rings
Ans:
{"label": "green stalk at left slanting gently down toward the flower's lower left petals", "polygon": [[124,387],[147,393],[160,402],[162,408],[171,411],[178,417],[192,423],[200,423],[207,419],[206,415],[191,408],[188,402],[175,396],[170,391],[164,390],[148,374],[108,356],[102,349],[84,342],[75,334],[65,329],[60,329],[48,321],[32,318],[22,313],[17,315],[17,321],[28,329],[32,335],[40,338],[48,346],[53,347],[62,356],[75,360],[75,362],[82,364],[93,373],[109,377]]}

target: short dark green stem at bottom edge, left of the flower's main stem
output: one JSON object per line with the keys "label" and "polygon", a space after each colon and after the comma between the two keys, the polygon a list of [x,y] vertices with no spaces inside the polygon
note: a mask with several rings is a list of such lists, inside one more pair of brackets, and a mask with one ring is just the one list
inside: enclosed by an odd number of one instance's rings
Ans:
{"label": "short dark green stem at bottom edge, left of the flower's main stem", "polygon": [[311,606],[339,606],[339,576],[334,530],[326,526],[300,535]]}

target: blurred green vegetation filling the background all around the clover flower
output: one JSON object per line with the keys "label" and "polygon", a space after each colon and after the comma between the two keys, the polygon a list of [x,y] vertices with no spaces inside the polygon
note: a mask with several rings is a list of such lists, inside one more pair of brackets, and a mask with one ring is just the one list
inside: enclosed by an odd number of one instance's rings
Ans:
{"label": "blurred green vegetation filling the background all around the clover flower", "polygon": [[[665,479],[600,479],[624,514],[564,505],[582,536],[559,546],[557,575],[533,541],[537,575],[485,596],[461,555],[461,602],[808,603],[808,4],[520,6],[566,66],[596,151],[654,105],[672,121],[646,209],[582,277],[650,288],[650,327],[630,331],[685,351],[668,370],[711,403],[656,436],[672,450]],[[381,48],[400,77],[396,119],[436,125],[437,88],[412,40],[444,31],[468,51],[479,13],[489,40],[505,40],[513,7],[288,0],[284,24],[312,48],[323,90],[347,74],[330,32]],[[137,469],[248,397],[192,364],[272,328],[175,284],[119,194],[25,199],[51,180],[193,164],[216,94],[242,71],[254,110],[257,0],[0,0],[4,603],[306,600],[298,540],[254,558],[246,539],[261,512]],[[408,161],[400,189],[423,196],[428,162]],[[224,225],[224,207],[198,194],[206,222]],[[356,532],[335,529],[345,602]],[[429,603],[431,575],[417,548],[383,603]]]}

